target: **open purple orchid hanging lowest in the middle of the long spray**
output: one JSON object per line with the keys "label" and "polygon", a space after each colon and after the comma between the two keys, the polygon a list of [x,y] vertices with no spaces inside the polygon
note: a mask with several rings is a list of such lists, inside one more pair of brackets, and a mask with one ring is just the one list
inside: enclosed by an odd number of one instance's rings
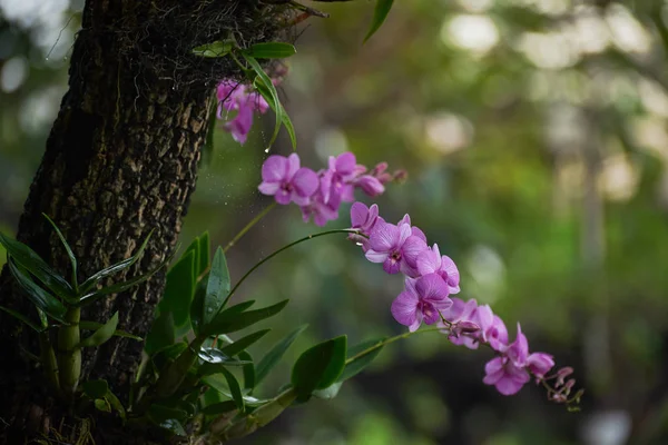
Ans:
{"label": "open purple orchid hanging lowest in the middle of the long spray", "polygon": [[433,325],[441,319],[440,312],[452,306],[448,295],[448,286],[435,274],[418,279],[406,278],[405,290],[392,303],[392,315],[396,322],[415,332],[423,320]]}

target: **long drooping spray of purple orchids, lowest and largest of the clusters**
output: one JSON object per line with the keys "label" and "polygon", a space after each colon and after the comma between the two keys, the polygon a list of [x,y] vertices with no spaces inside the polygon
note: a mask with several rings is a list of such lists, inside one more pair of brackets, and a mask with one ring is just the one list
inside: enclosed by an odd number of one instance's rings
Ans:
{"label": "long drooping spray of purple orchids, lowest and largest of the clusters", "polygon": [[[577,403],[582,390],[570,395],[574,379],[564,382],[572,368],[548,373],[554,359],[547,353],[530,353],[529,343],[518,323],[514,342],[510,343],[503,320],[489,305],[478,305],[474,299],[451,297],[460,291],[460,274],[454,261],[442,256],[439,246],[431,248],[426,237],[418,227],[411,226],[409,215],[396,225],[379,216],[374,204],[362,202],[351,208],[352,227],[367,243],[357,243],[372,263],[382,263],[387,274],[403,273],[405,287],[391,306],[397,323],[407,326],[411,333],[422,323],[436,325],[455,345],[475,349],[485,345],[495,354],[484,367],[483,383],[494,386],[503,395],[517,394],[533,377],[548,390],[548,397],[557,403]],[[357,241],[357,238],[353,238]],[[550,383],[554,382],[553,385]]]}

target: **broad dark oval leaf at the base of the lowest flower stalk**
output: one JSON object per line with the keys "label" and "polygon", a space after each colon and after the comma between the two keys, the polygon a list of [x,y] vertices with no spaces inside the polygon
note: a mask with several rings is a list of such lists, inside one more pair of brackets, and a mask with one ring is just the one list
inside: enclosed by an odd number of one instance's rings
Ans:
{"label": "broad dark oval leaf at the base of the lowest flower stalk", "polygon": [[332,385],[345,367],[346,336],[332,338],[304,352],[292,372],[297,400],[305,402],[315,389]]}

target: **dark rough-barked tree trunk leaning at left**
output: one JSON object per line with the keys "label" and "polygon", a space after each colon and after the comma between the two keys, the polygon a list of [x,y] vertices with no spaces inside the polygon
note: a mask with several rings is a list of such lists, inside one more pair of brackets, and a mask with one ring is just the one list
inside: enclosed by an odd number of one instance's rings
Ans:
{"label": "dark rough-barked tree trunk leaning at left", "polygon": [[[243,0],[88,0],[72,50],[69,91],[17,238],[68,276],[67,257],[41,214],[49,215],[79,258],[79,279],[132,255],[151,230],[143,258],[126,275],[147,273],[163,261],[174,249],[195,188],[215,83],[238,76],[227,58],[200,59],[191,48],[225,38],[232,29],[237,41],[271,38],[275,30],[267,24],[268,12],[257,1]],[[145,336],[164,276],[158,273],[99,301],[82,319],[106,322],[119,312],[119,329]],[[35,313],[12,289],[7,270],[0,300]],[[86,439],[81,424],[72,434],[59,424],[72,417],[41,389],[43,377],[19,346],[30,348],[35,339],[1,312],[0,339],[0,443],[22,444],[52,429],[65,443]],[[105,378],[125,399],[141,349],[140,342],[115,338],[85,355],[82,378]],[[97,431],[90,437],[97,444],[148,443],[134,433],[117,437],[105,431],[109,422],[91,416]]]}

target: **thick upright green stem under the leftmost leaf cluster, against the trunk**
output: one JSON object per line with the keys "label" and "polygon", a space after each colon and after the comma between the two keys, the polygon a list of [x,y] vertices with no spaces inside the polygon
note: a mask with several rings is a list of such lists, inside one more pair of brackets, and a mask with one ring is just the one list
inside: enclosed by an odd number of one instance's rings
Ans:
{"label": "thick upright green stem under the leftmost leaf cluster, against the trunk", "polygon": [[80,317],[81,308],[70,307],[65,314],[67,325],[58,329],[58,370],[60,388],[66,397],[75,394],[81,376]]}

